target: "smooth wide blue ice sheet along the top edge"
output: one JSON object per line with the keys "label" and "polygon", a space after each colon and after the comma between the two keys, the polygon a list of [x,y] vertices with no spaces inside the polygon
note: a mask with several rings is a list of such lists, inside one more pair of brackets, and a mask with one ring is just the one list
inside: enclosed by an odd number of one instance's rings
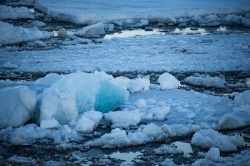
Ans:
{"label": "smooth wide blue ice sheet along the top edge", "polygon": [[[149,21],[175,22],[174,17],[204,15],[212,13],[232,13],[249,10],[249,1],[232,0],[226,1],[188,1],[184,0],[177,3],[170,0],[167,3],[164,0],[152,2],[150,0],[138,3],[133,0],[113,2],[112,0],[95,1],[95,3],[82,2],[74,0],[72,2],[56,0],[37,0],[35,7],[50,17],[62,21],[68,21],[76,24],[88,24],[98,21],[116,21],[126,19],[148,19]],[[63,6],[67,6],[64,8]],[[112,10],[109,10],[111,9]],[[209,17],[207,20],[214,20],[215,17]]]}

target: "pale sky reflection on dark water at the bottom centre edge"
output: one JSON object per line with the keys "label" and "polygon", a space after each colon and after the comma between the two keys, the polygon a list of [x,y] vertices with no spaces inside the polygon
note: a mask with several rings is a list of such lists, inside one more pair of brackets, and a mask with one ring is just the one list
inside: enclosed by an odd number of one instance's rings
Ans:
{"label": "pale sky reflection on dark water at the bottom centre edge", "polygon": [[121,152],[114,152],[109,157],[116,158],[120,160],[125,160],[122,164],[129,164],[135,159],[137,156],[141,155],[141,152],[129,152],[129,153],[121,153]]}

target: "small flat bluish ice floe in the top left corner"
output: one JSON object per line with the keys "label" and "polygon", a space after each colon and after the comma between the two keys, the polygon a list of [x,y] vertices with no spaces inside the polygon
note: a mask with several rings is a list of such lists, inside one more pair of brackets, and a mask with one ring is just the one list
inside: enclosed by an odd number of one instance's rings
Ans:
{"label": "small flat bluish ice floe in the top left corner", "polygon": [[0,20],[8,19],[34,19],[27,7],[11,7],[0,5]]}

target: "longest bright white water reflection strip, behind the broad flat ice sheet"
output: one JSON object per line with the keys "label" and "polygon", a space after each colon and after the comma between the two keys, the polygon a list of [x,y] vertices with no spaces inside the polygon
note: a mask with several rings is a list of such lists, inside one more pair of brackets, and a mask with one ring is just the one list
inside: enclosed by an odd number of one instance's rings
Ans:
{"label": "longest bright white water reflection strip, behind the broad flat ice sheet", "polygon": [[158,29],[154,29],[153,31],[145,31],[144,29],[135,29],[135,30],[125,30],[122,32],[116,32],[114,34],[108,34],[104,37],[104,39],[112,39],[112,38],[127,38],[134,36],[145,36],[145,35],[157,35],[164,34],[160,32]]}

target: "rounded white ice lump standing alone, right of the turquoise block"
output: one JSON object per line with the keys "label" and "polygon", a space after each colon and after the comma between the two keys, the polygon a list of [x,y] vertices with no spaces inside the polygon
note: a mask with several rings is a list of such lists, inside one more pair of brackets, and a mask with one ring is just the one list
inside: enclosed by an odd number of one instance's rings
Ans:
{"label": "rounded white ice lump standing alone, right of the turquoise block", "polygon": [[162,90],[177,89],[180,86],[180,81],[169,73],[163,73],[160,75],[158,82],[160,83]]}

